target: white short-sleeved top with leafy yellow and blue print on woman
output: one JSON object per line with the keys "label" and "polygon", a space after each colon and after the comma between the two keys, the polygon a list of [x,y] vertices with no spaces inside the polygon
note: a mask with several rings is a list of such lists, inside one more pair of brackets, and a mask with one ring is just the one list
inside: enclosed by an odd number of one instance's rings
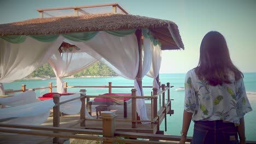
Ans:
{"label": "white short-sleeved top with leafy yellow and blue print on woman", "polygon": [[252,111],[243,79],[235,81],[230,72],[230,84],[211,86],[197,78],[194,69],[185,78],[184,110],[193,113],[193,121],[223,120],[240,123],[245,113]]}

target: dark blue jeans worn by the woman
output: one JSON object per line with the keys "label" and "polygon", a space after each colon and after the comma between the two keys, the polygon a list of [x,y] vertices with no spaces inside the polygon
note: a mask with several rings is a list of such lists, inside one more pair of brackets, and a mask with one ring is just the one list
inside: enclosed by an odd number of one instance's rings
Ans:
{"label": "dark blue jeans worn by the woman", "polygon": [[195,121],[192,144],[237,144],[234,123],[223,121]]}

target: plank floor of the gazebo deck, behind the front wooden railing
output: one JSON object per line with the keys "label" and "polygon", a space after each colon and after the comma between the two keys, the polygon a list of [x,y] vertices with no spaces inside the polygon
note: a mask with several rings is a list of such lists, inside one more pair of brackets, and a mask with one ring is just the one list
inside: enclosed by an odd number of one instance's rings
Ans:
{"label": "plank floor of the gazebo deck, behind the front wooden railing", "polygon": [[[146,104],[147,106],[147,115],[150,118],[151,110],[150,104]],[[97,105],[92,105],[92,117],[96,119],[96,110],[95,107]],[[135,133],[149,133],[155,134],[157,131],[157,125],[153,124],[137,124],[137,128],[132,128],[131,125],[131,104],[127,105],[127,118],[124,118],[124,106],[123,105],[112,105],[110,106],[110,111],[115,111],[115,114],[118,115],[116,118],[117,122],[115,122],[116,131],[127,131],[127,132],[135,132]],[[71,116],[61,116],[60,118],[60,127],[73,127],[73,128],[85,128],[85,129],[102,129],[102,121],[101,118],[97,119],[97,121],[85,121],[85,127],[80,127],[80,115],[71,115]],[[124,122],[127,120],[127,122]],[[130,120],[130,122],[129,122]],[[50,116],[48,120],[42,125],[52,126],[53,125],[53,117]]]}

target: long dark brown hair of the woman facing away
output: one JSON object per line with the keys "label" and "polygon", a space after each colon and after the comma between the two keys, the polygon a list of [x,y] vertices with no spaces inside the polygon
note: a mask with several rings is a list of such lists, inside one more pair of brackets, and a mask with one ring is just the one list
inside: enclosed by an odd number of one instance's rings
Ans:
{"label": "long dark brown hair of the woman facing away", "polygon": [[242,72],[230,59],[228,45],[223,35],[216,31],[208,32],[200,46],[199,64],[195,68],[197,77],[207,80],[212,86],[222,85],[231,83],[229,70],[234,73],[235,80],[243,77]]}

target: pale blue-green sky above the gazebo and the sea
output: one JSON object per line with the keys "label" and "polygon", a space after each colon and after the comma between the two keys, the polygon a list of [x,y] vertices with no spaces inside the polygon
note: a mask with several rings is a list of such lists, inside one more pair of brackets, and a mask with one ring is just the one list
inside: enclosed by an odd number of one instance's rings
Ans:
{"label": "pale blue-green sky above the gazebo and the sea", "polygon": [[243,73],[256,72],[256,1],[68,1],[0,0],[0,23],[39,17],[36,9],[118,3],[129,14],[170,20],[179,27],[185,50],[162,51],[160,73],[187,73],[197,66],[203,36],[222,33],[232,62]]}

